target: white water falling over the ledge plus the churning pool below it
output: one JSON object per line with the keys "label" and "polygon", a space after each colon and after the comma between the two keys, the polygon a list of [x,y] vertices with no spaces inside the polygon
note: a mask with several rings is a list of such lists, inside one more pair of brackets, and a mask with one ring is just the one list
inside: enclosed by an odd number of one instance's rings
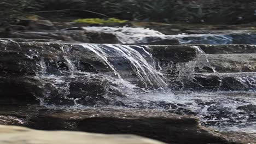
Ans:
{"label": "white water falling over the ledge plus the churning pool below it", "polygon": [[[39,61],[40,73],[37,77],[45,83],[50,83],[51,86],[62,95],[64,99],[74,101],[72,109],[86,109],[86,104],[80,104],[79,100],[83,98],[69,97],[70,83],[69,79],[79,79],[79,77],[86,77],[87,80],[92,77],[102,77],[100,81],[108,81],[114,83],[112,87],[117,89],[126,97],[115,98],[110,96],[112,93],[106,93],[104,97],[109,98],[112,102],[107,105],[96,106],[112,106],[112,107],[132,107],[141,109],[159,109],[180,115],[193,115],[201,119],[201,123],[207,127],[212,127],[218,130],[243,130],[247,133],[255,133],[256,124],[256,94],[252,92],[190,92],[190,91],[171,91],[167,88],[165,78],[156,69],[157,65],[152,55],[146,51],[142,46],[127,46],[127,45],[113,45],[113,44],[78,44],[84,49],[91,51],[98,58],[100,58],[106,67],[113,71],[114,75],[105,74],[91,74],[79,71],[74,65],[74,61],[69,57],[65,57],[68,65],[68,71],[61,71],[65,75],[54,75],[47,72],[47,64],[42,60]],[[63,52],[69,52],[67,48],[62,47]],[[195,49],[199,49],[195,46]],[[198,50],[197,55],[202,55],[203,52]],[[31,56],[28,56],[31,57]],[[129,63],[129,70],[139,79],[144,88],[139,88],[130,79],[127,79],[123,74],[123,68],[120,67],[120,58]],[[197,57],[200,61],[208,63],[207,57]],[[147,60],[146,60],[147,59]],[[199,59],[197,59],[199,60]],[[192,69],[195,67],[196,61],[188,62]],[[179,65],[181,67],[181,65]],[[127,69],[126,69],[127,70]],[[179,70],[188,71],[188,69]],[[68,73],[67,73],[68,72]],[[216,73],[216,72],[215,72]],[[182,72],[181,72],[182,74]],[[253,77],[238,77],[243,83],[251,83],[254,85]],[[149,87],[153,89],[148,89]],[[48,89],[43,86],[44,89]],[[252,87],[254,89],[255,87]],[[155,89],[155,90],[154,90]],[[48,91],[48,90],[47,90]],[[63,96],[64,95],[64,96]],[[41,104],[48,107],[61,107],[59,105],[53,106],[45,99],[53,97],[49,92],[44,93],[44,97],[40,98]],[[120,104],[121,102],[121,104]],[[83,108],[84,107],[84,108]],[[66,107],[65,107],[66,109]],[[68,108],[71,109],[71,108]]]}

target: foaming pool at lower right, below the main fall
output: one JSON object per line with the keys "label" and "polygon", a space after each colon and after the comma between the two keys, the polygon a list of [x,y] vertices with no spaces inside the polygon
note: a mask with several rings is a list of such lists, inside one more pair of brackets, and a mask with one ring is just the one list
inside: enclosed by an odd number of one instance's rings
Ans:
{"label": "foaming pool at lower right, below the main fall", "polygon": [[[176,92],[174,92],[176,93]],[[179,115],[193,115],[201,123],[220,131],[255,133],[256,96],[253,92],[155,92],[121,99],[126,107],[161,109]],[[251,108],[253,109],[253,108]]]}

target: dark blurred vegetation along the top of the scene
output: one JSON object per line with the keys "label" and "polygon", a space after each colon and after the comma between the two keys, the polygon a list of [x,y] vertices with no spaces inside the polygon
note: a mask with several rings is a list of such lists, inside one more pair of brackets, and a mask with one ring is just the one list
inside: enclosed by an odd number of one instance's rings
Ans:
{"label": "dark blurred vegetation along the top of the scene", "polygon": [[252,0],[1,0],[0,20],[36,14],[46,18],[238,24],[255,21],[255,9]]}

